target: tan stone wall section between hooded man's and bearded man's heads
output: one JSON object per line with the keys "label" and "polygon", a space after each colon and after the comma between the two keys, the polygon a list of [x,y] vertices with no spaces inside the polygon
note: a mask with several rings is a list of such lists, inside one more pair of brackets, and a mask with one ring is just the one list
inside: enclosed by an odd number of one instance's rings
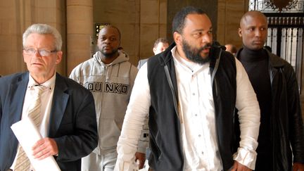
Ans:
{"label": "tan stone wall section between hooded man's and bearded man's heads", "polygon": [[153,44],[167,33],[165,0],[94,1],[94,23],[109,23],[120,29],[121,46],[137,65],[153,55]]}

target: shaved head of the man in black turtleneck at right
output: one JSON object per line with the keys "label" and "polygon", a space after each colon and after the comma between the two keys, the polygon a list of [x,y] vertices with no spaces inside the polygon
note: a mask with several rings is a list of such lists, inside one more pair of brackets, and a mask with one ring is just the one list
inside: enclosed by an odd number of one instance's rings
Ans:
{"label": "shaved head of the man in black turtleneck at right", "polygon": [[267,18],[260,11],[248,11],[240,21],[239,37],[243,46],[251,50],[263,48],[267,39]]}

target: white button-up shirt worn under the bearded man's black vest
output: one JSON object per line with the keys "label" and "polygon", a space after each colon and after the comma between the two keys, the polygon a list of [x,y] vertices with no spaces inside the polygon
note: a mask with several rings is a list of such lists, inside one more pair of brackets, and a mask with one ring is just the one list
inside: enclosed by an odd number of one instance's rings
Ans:
{"label": "white button-up shirt worn under the bearded man's black vest", "polygon": [[[184,152],[184,170],[222,170],[217,147],[215,108],[209,63],[199,65],[185,61],[172,50],[177,76],[181,134]],[[132,170],[136,167],[134,153],[137,139],[148,109],[151,106],[147,65],[137,74],[127,107],[122,133],[118,141],[118,160],[115,170]],[[260,108],[248,75],[236,59],[236,108],[239,110],[241,129],[240,147],[234,160],[254,169],[260,127]]]}

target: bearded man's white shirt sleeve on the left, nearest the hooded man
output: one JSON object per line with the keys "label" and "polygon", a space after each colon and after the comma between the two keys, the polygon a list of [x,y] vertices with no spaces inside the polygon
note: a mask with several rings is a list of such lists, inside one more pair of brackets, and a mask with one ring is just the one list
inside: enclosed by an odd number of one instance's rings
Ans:
{"label": "bearded man's white shirt sleeve on the left, nearest the hooded man", "polygon": [[118,140],[118,160],[114,170],[137,170],[134,155],[137,151],[141,129],[151,105],[150,98],[147,65],[145,63],[137,74],[127,106],[122,132]]}

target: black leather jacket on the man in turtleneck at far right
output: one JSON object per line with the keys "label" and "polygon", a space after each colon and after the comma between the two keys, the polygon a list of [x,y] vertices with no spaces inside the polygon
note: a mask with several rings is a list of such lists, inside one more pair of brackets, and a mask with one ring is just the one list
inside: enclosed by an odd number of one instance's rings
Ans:
{"label": "black leather jacket on the man in turtleneck at far right", "polygon": [[298,83],[289,63],[269,51],[267,53],[272,88],[272,167],[276,171],[288,171],[292,170],[292,162],[304,163],[304,129]]}

